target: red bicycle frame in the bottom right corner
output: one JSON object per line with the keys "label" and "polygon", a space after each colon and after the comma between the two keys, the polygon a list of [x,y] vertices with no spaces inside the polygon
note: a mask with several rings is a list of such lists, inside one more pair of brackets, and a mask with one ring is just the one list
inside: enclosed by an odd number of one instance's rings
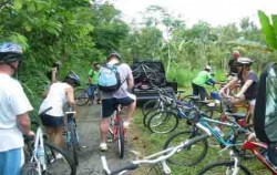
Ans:
{"label": "red bicycle frame in the bottom right corner", "polygon": [[252,151],[255,156],[264,164],[266,167],[275,175],[277,175],[277,169],[274,167],[274,165],[260,153],[259,148],[267,150],[267,145],[264,143],[257,143],[253,141],[246,141],[243,144],[243,150]]}

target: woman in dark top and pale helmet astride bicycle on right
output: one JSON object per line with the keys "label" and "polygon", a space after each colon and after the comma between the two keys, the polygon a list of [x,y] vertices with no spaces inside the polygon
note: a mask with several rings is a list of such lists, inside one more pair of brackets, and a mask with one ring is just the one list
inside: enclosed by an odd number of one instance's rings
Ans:
{"label": "woman in dark top and pale helmet astride bicycle on right", "polygon": [[[253,60],[249,58],[238,58],[236,66],[238,73],[220,91],[220,96],[226,96],[226,91],[235,85],[240,83],[242,89],[232,99],[232,104],[242,103],[247,101],[249,103],[250,116],[254,116],[254,109],[256,103],[256,96],[258,91],[258,78],[257,74],[252,70]],[[249,121],[249,119],[247,119]],[[252,122],[252,121],[250,121]]]}

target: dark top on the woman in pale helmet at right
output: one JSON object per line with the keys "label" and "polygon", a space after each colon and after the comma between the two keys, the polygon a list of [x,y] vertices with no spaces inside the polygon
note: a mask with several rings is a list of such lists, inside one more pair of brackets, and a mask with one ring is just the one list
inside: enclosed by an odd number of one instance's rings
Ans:
{"label": "dark top on the woman in pale helmet at right", "polygon": [[[240,81],[240,85],[243,86],[245,84],[245,81],[243,79],[243,73],[239,72],[237,74],[238,80]],[[253,80],[252,85],[245,91],[244,95],[246,100],[254,100],[257,96],[257,92],[258,92],[258,76],[254,71],[250,71],[248,73],[248,76],[246,79],[247,80]]]}

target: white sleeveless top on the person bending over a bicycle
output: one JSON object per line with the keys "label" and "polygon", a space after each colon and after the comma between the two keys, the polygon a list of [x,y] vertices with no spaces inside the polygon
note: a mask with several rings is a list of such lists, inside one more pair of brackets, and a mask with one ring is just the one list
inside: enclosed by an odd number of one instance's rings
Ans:
{"label": "white sleeveless top on the person bending over a bicycle", "polygon": [[40,105],[39,113],[43,112],[48,107],[52,106],[52,110],[48,111],[45,114],[51,116],[61,117],[63,116],[63,106],[66,104],[66,89],[71,86],[68,83],[57,82],[50,86],[48,96],[43,100]]}

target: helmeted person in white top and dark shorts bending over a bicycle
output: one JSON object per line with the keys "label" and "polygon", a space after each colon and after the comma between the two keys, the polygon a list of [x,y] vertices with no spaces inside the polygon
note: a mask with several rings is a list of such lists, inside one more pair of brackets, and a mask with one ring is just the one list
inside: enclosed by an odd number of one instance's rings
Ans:
{"label": "helmeted person in white top and dark shorts bending over a bicycle", "polygon": [[59,147],[63,146],[64,106],[69,105],[74,110],[74,86],[80,85],[80,78],[74,72],[69,72],[64,82],[53,83],[47,92],[39,113],[52,106],[41,116],[49,140]]}

